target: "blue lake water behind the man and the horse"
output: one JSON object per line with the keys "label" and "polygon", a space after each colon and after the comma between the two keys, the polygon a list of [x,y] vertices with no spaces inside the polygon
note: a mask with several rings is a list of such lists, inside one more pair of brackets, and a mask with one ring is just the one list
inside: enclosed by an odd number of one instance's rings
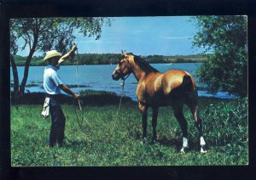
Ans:
{"label": "blue lake water behind the man and the horse", "polygon": [[[195,70],[201,65],[201,63],[175,63],[175,64],[153,64],[152,66],[160,70],[160,72],[165,72],[166,70],[179,69],[186,70],[195,78],[195,82],[198,87],[204,87],[203,84],[198,82],[198,78],[195,75]],[[112,72],[115,69],[116,65],[67,65],[61,66],[61,69],[58,70],[58,74],[61,77],[63,83],[67,85],[75,85],[71,89],[78,93],[79,90],[96,90],[96,91],[107,91],[114,92],[120,95],[122,87],[120,87],[119,82],[113,81]],[[44,66],[31,66],[29,69],[29,75],[26,82],[26,85],[33,85],[32,87],[26,87],[26,91],[29,92],[44,92],[43,87],[43,74]],[[13,83],[12,70],[10,70],[10,80]],[[77,78],[78,72],[78,78]],[[24,67],[18,67],[18,73],[20,81],[23,77]],[[86,87],[77,87],[77,85],[86,86]],[[137,80],[133,75],[125,81],[125,96],[131,97],[133,100],[137,101],[136,97],[136,87]],[[62,92],[64,93],[64,92]],[[199,96],[205,97],[217,97],[217,98],[234,98],[228,93],[219,92],[215,95],[207,93],[206,91],[199,91]]]}

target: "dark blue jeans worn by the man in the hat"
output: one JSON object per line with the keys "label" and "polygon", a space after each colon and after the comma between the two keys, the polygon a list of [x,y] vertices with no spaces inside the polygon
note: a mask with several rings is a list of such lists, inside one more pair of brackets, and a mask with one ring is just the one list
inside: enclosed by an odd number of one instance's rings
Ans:
{"label": "dark blue jeans worn by the man in the hat", "polygon": [[50,147],[63,144],[66,118],[61,110],[61,104],[58,102],[59,95],[49,95],[49,113],[51,116],[51,127],[49,132]]}

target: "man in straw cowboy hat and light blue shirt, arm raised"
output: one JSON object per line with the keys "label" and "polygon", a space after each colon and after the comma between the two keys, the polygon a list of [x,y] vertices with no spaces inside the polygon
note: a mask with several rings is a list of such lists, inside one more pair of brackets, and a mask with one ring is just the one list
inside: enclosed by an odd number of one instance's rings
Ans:
{"label": "man in straw cowboy hat and light blue shirt, arm raised", "polygon": [[54,147],[56,144],[59,146],[63,145],[66,118],[61,110],[61,90],[72,95],[76,100],[79,100],[79,95],[73,93],[69,87],[61,82],[61,79],[57,74],[57,70],[60,69],[61,63],[64,62],[76,49],[77,46],[75,45],[63,56],[56,50],[51,50],[48,51],[44,57],[44,61],[48,62],[48,66],[44,69],[44,90],[46,92],[44,102],[49,103],[48,114],[51,116],[51,127],[47,149]]}

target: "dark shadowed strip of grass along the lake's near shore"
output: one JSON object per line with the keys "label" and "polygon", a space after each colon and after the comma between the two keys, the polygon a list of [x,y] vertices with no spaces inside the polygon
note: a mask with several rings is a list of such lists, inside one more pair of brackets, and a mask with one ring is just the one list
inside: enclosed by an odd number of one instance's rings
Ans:
{"label": "dark shadowed strip of grass along the lake's near shore", "polygon": [[[13,96],[13,93],[11,94]],[[11,98],[11,104],[44,104],[45,93],[25,93],[24,96],[20,98]],[[81,95],[80,100],[82,100],[84,105],[109,105],[109,104],[119,104],[120,97],[116,94],[110,93],[96,93]],[[78,104],[75,100],[68,95],[61,94],[59,98],[61,104]],[[131,98],[123,97],[122,102],[132,102]]]}

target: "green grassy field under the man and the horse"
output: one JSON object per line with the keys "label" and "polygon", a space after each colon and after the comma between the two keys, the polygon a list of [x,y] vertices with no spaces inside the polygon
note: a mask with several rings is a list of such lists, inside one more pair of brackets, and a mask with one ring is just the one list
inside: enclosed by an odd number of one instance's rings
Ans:
{"label": "green grassy field under the man and the horse", "polygon": [[119,98],[114,94],[91,92],[83,97],[84,116],[91,127],[84,120],[83,131],[79,128],[75,111],[79,122],[82,122],[82,114],[67,98],[61,106],[67,118],[65,144],[61,148],[45,149],[50,119],[41,117],[43,103],[40,102],[44,98],[38,99],[38,103],[15,102],[10,107],[12,166],[230,166],[248,163],[247,99],[200,98],[206,155],[200,154],[198,133],[187,108],[184,115],[189,122],[189,152],[181,154],[178,152],[182,145],[181,131],[170,108],[160,108],[158,141],[154,144],[150,143],[152,112],[149,110],[148,141],[141,143],[142,121],[137,103],[125,98],[117,118]]}

